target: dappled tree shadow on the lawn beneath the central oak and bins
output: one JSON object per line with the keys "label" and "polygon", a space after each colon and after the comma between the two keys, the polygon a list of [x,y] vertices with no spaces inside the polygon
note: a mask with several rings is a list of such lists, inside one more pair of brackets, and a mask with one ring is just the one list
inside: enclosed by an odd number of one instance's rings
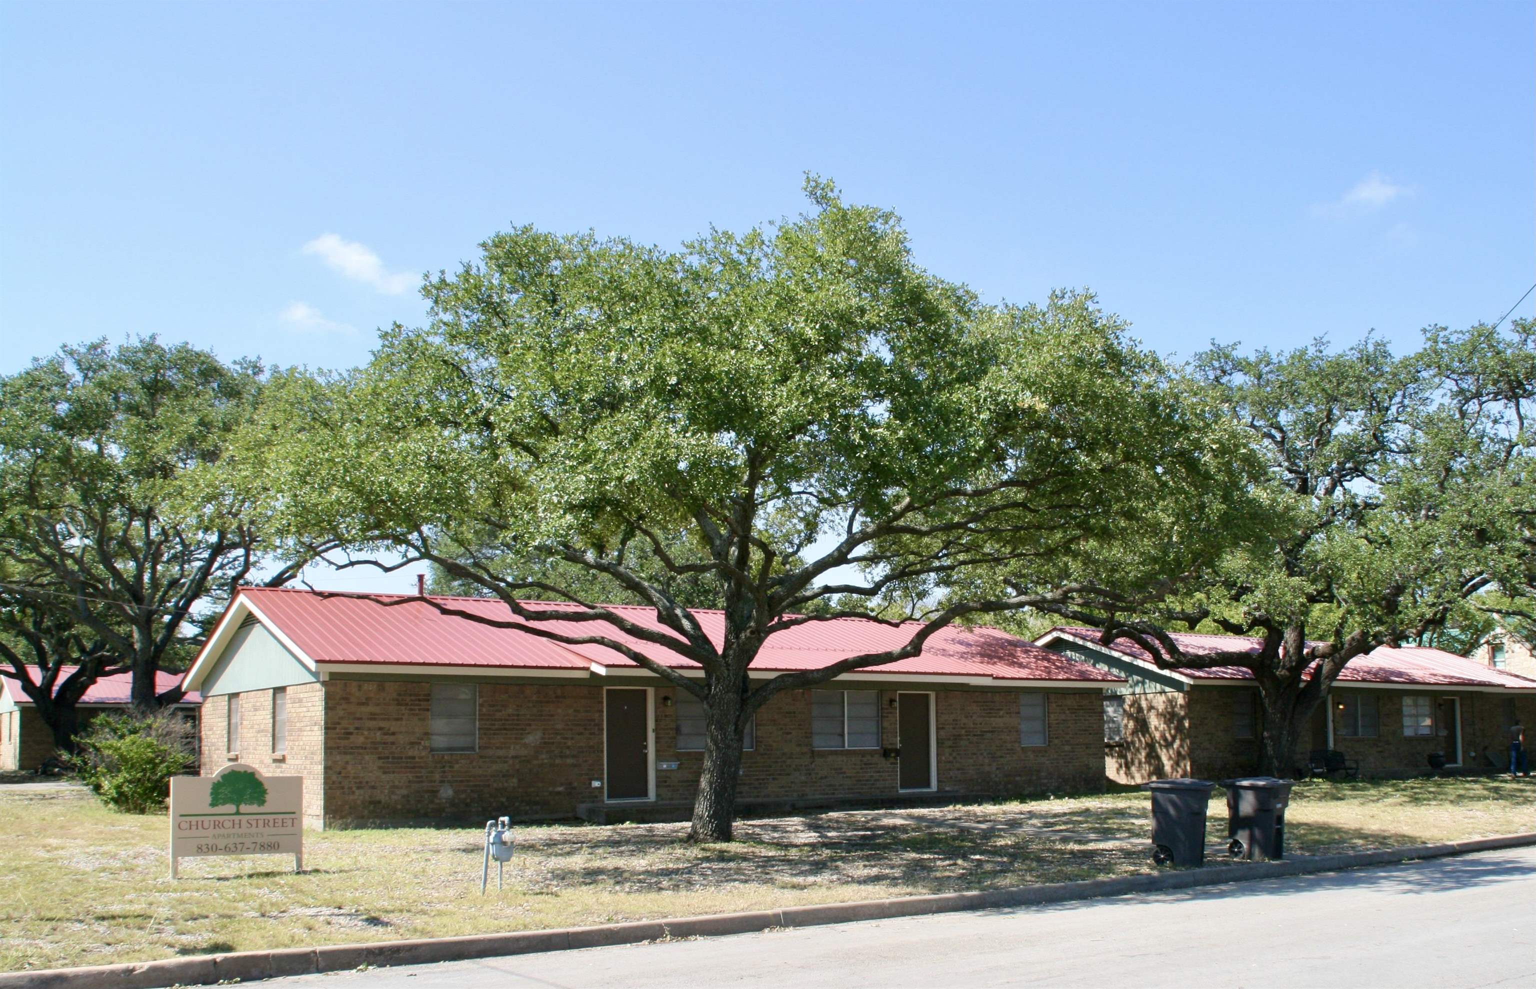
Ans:
{"label": "dappled tree shadow on the lawn beneath the central oak and bins", "polygon": [[[1221,806],[1218,796],[1207,823],[1210,865],[1229,865],[1220,854]],[[682,845],[684,829],[633,825],[550,834],[527,843],[519,882],[530,892],[593,885],[662,892],[731,883],[954,892],[1158,871],[1146,805],[1120,797],[1060,808],[1037,802],[754,820],[737,825],[731,845]],[[1398,831],[1299,822],[1287,834],[1292,855],[1418,843],[1418,835]]]}

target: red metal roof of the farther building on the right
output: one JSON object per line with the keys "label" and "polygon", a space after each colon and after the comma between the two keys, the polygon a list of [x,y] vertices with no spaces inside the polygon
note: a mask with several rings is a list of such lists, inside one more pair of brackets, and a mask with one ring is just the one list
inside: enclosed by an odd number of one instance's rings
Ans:
{"label": "red metal roof of the farther building on the right", "polygon": [[[1052,633],[1064,633],[1098,645],[1100,630],[1078,625],[1058,625]],[[1046,633],[1048,636],[1051,633]],[[1263,640],[1256,636],[1209,636],[1204,633],[1177,631],[1169,637],[1190,656],[1209,656],[1241,650],[1258,653]],[[1103,648],[1103,647],[1101,647]],[[1120,639],[1114,648],[1141,662],[1152,663],[1152,656],[1137,643]],[[1193,680],[1252,680],[1253,674],[1243,666],[1213,666],[1210,670],[1178,668]],[[1402,683],[1407,686],[1502,686],[1508,690],[1536,690],[1536,680],[1504,670],[1491,670],[1465,656],[1428,647],[1384,645],[1366,656],[1358,656],[1344,666],[1339,683]]]}

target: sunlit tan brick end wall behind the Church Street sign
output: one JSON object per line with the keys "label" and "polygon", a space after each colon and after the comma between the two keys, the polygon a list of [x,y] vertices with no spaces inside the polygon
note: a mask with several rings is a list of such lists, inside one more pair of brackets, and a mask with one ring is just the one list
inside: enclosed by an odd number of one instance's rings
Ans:
{"label": "sunlit tan brick end wall behind the Church Street sign", "polygon": [[303,683],[287,688],[287,751],[272,752],[272,691],[252,690],[240,694],[240,751],[227,746],[227,694],[203,702],[201,774],[214,776],[232,762],[255,766],[267,776],[304,777],[304,825],[315,828],[324,822],[324,683]]}

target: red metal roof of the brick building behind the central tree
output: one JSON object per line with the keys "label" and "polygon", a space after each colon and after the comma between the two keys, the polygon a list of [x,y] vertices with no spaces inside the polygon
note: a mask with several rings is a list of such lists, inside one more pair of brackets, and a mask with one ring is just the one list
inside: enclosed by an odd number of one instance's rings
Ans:
{"label": "red metal roof of the brick building behind the central tree", "polygon": [[[485,597],[433,596],[424,600],[409,594],[356,594],[304,591],[292,588],[241,588],[246,599],[293,645],[316,663],[442,665],[588,670],[634,668],[627,656],[602,645],[564,645],[539,636],[484,625],[473,617],[516,620],[507,605]],[[538,608],[570,605],[530,604]],[[462,614],[444,613],[444,608]],[[667,631],[653,608],[610,605],[636,625]],[[723,613],[694,610],[705,634],[719,648],[723,640]],[[696,663],[671,650],[619,633],[613,625],[576,620],[539,622],[541,628],[574,636],[604,636],[674,668]],[[753,660],[753,670],[816,670],[839,659],[905,645],[920,628],[919,622],[897,627],[863,619],[808,622],[776,633]],[[885,663],[866,673],[923,676],[965,676],[994,680],[1060,680],[1120,683],[1120,677],[1087,663],[1052,653],[997,628],[951,625],[926,642],[912,659]]]}

